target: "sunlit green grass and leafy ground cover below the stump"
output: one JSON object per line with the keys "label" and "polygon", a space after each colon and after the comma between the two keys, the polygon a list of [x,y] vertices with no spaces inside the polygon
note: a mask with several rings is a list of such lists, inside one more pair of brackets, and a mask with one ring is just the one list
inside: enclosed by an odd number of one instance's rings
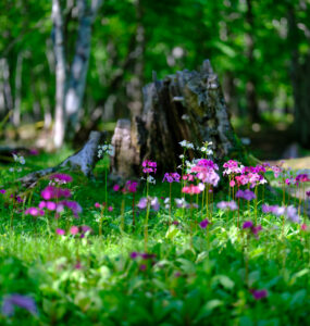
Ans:
{"label": "sunlit green grass and leafy ground cover below the stump", "polygon": [[[67,155],[67,151],[61,155]],[[2,180],[9,183],[29,171],[54,165],[61,158],[53,160],[55,155],[44,153],[26,158],[23,171],[14,173],[9,172],[11,165],[3,165]],[[282,217],[261,211],[262,203],[281,204],[282,195],[274,196],[260,186],[257,209],[255,201],[240,201],[240,224],[255,221],[257,215],[262,226],[257,238],[249,229],[237,228],[237,211],[218,210],[218,201],[228,200],[227,186],[214,192],[208,211],[206,202],[201,208],[201,195],[199,209],[184,211],[173,205],[172,220],[178,224],[169,226],[163,200],[170,189],[159,178],[149,189],[150,196],[163,198],[158,212],[150,210],[149,255],[137,255],[145,253],[146,211],[135,209],[134,228],[132,193],[114,192],[109,184],[108,202],[113,211],[102,214],[95,208],[106,198],[106,166],[107,161],[99,162],[96,181],[72,175],[72,199],[83,206],[79,218],[70,211],[62,212],[58,220],[54,212],[37,217],[24,214],[26,208],[41,200],[47,179],[18,193],[27,198],[18,206],[9,196],[12,184],[5,188],[7,193],[0,193],[0,304],[8,296],[20,293],[34,299],[37,306],[37,313],[32,314],[15,305],[12,316],[0,313],[0,325],[307,323],[309,228],[301,231],[299,224],[289,222],[283,227]],[[145,184],[140,184],[136,202],[145,195]],[[174,183],[172,198],[179,197],[181,185]],[[188,195],[186,199],[190,201]],[[199,222],[206,217],[212,223],[201,228]],[[306,216],[302,218],[306,221]],[[57,228],[67,234],[73,225],[88,225],[92,233],[84,238],[57,235]],[[255,298],[253,292],[259,290],[266,290],[264,298]]]}

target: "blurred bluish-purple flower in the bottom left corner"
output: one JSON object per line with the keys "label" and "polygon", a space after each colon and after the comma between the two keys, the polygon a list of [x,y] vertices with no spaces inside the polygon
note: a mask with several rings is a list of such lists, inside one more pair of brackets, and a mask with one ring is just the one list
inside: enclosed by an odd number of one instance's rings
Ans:
{"label": "blurred bluish-purple flower in the bottom left corner", "polygon": [[38,313],[35,300],[32,297],[14,293],[4,298],[2,303],[2,314],[5,316],[13,316],[15,306],[23,308],[33,315]]}

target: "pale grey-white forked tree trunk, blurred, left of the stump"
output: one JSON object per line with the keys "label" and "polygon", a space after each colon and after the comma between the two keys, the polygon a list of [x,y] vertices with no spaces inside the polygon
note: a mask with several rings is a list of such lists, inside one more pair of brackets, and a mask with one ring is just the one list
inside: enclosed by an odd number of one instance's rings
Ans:
{"label": "pale grey-white forked tree trunk, blurred, left of the stump", "polygon": [[77,9],[79,11],[77,40],[74,59],[70,71],[67,71],[62,10],[60,0],[53,0],[52,16],[57,71],[57,106],[53,140],[57,148],[63,145],[66,135],[69,135],[69,138],[72,138],[76,131],[88,70],[91,25],[100,4],[101,0],[92,0],[91,4],[87,4],[86,0],[77,0]]}

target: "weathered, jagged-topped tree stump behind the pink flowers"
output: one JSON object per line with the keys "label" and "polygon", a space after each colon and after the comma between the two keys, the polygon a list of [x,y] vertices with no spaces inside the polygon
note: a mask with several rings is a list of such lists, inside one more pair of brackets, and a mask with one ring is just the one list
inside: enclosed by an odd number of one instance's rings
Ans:
{"label": "weathered, jagged-topped tree stump behind the pink flowers", "polygon": [[[243,154],[230,123],[223,92],[209,60],[199,72],[187,70],[153,77],[142,89],[144,105],[139,114],[116,124],[112,145],[112,175],[122,178],[138,176],[140,164],[149,159],[158,163],[159,172],[173,172],[183,153],[179,141],[187,140],[195,148],[212,141],[218,162],[230,155]],[[194,156],[194,152],[189,153]]]}

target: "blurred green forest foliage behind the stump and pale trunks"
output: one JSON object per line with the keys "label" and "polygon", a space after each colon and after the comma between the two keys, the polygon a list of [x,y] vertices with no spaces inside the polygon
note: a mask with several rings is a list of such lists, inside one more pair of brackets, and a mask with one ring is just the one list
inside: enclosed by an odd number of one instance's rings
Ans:
{"label": "blurred green forest foliage behind the stump and pale trunks", "polygon": [[[61,3],[71,62],[75,0]],[[12,112],[1,135],[5,141],[23,137],[28,124],[42,131],[40,139],[52,128],[51,10],[52,1],[0,1],[1,121]],[[289,139],[310,147],[309,13],[309,0],[106,0],[92,26],[77,139],[90,129],[112,129],[113,122],[129,116],[153,72],[163,78],[210,59],[241,136],[263,131],[270,139],[277,126],[285,145]],[[15,114],[14,120],[14,111],[21,111],[21,118]]]}

